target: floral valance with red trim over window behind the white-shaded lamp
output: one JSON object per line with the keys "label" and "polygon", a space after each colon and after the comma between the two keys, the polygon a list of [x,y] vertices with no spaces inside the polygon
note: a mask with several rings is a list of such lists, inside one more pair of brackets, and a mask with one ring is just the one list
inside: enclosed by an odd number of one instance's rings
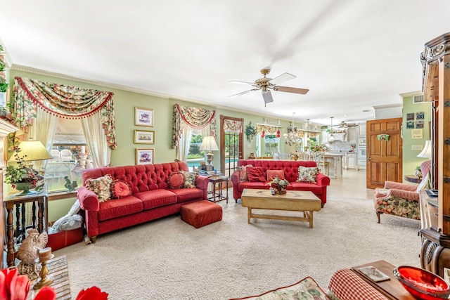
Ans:
{"label": "floral valance with red trim over window behind the white-shaded lamp", "polygon": [[210,125],[210,135],[217,138],[215,110],[175,104],[172,125],[172,148],[179,147],[179,141],[181,136],[183,136],[183,124],[187,124],[193,129],[203,129]]}

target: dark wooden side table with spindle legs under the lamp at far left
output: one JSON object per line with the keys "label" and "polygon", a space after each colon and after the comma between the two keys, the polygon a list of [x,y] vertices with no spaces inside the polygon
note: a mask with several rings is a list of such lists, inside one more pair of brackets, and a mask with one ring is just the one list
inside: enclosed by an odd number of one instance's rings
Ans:
{"label": "dark wooden side table with spindle legs under the lamp at far left", "polygon": [[[15,240],[14,237],[25,239],[26,219],[25,204],[32,202],[32,228],[36,228],[39,233],[47,230],[48,226],[48,198],[47,187],[35,194],[20,196],[20,191],[12,190],[4,199],[6,207],[6,262],[8,267],[15,266]],[[37,204],[37,224],[36,224],[36,204]],[[14,235],[14,217],[13,208],[15,206],[15,233]]]}

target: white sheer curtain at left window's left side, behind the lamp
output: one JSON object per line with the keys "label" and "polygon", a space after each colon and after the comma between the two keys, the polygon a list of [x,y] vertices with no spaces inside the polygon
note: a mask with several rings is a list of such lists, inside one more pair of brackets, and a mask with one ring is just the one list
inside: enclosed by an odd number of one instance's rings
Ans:
{"label": "white sheer curtain at left window's left side, behind the lamp", "polygon": [[[39,120],[39,126],[31,127],[31,136],[34,141],[40,141],[47,150],[53,145],[53,136],[55,136],[56,124],[58,124],[58,117],[53,116],[37,106],[37,116],[35,120]],[[34,169],[45,169],[47,160],[37,160],[34,162]]]}

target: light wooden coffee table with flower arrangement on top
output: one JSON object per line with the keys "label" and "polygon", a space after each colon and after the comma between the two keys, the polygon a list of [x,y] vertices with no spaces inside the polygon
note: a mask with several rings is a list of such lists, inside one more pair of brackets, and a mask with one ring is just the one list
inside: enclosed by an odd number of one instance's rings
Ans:
{"label": "light wooden coffee table with flower arrangement on top", "polygon": [[[245,188],[240,199],[242,200],[242,206],[248,207],[248,223],[250,223],[251,218],[304,221],[309,222],[309,228],[313,228],[314,211],[320,211],[322,203],[313,193],[300,190],[288,190],[284,195],[271,195],[270,190]],[[302,211],[303,217],[253,214],[252,209]]]}

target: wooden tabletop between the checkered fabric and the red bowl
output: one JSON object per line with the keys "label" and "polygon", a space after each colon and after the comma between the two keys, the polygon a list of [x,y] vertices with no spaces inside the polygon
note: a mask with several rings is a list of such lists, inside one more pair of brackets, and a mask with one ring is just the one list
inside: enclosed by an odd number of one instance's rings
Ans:
{"label": "wooden tabletop between the checkered fabric and the red bowl", "polygon": [[[387,276],[389,276],[390,280],[375,282],[371,279],[369,279],[366,275],[361,273],[358,269],[361,267],[367,267],[367,266],[373,266],[380,270],[381,272],[385,273]],[[387,299],[392,300],[416,300],[416,298],[413,297],[413,295],[409,294],[408,291],[401,285],[399,280],[394,277],[394,268],[392,264],[388,263],[387,261],[374,261],[373,263],[366,263],[361,266],[355,266],[352,267],[352,271],[356,273],[361,279],[368,282],[369,285],[372,287],[375,287],[375,289],[378,290],[381,294],[385,295]]]}

